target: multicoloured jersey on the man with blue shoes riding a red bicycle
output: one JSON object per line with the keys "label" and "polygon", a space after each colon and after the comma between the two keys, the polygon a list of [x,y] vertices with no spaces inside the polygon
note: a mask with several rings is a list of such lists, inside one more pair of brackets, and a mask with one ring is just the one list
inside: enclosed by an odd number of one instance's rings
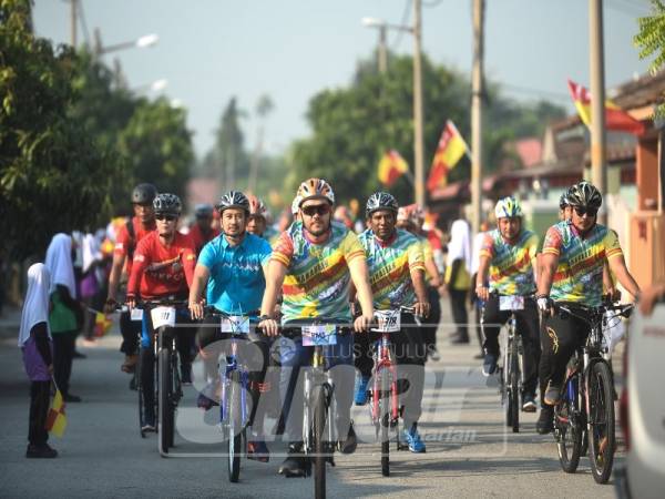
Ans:
{"label": "multicoloured jersey on the man with blue shoes riding a red bicycle", "polygon": [[408,306],[416,302],[411,271],[424,272],[422,247],[416,236],[397,228],[382,242],[368,228],[358,236],[365,248],[369,283],[377,309]]}

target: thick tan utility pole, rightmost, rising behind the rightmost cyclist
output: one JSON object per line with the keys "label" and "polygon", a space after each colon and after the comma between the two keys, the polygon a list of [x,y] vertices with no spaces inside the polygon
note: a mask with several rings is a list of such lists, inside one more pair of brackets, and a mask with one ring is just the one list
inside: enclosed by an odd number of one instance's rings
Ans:
{"label": "thick tan utility pole, rightmost, rising behind the rightmost cyclist", "polygon": [[[591,182],[607,194],[605,167],[605,54],[603,40],[603,0],[589,0],[589,57],[591,70]],[[598,223],[607,223],[607,212],[598,213]]]}

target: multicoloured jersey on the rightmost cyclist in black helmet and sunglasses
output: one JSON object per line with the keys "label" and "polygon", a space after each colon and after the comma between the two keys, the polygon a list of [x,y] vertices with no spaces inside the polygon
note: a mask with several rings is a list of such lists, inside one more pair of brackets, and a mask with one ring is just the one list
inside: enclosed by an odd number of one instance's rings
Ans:
{"label": "multicoloured jersey on the rightmost cyclist in black helmet and sunglasses", "polygon": [[545,235],[543,254],[559,256],[550,296],[554,301],[576,302],[595,307],[603,299],[605,261],[623,256],[614,231],[594,225],[582,237],[570,222],[551,226]]}

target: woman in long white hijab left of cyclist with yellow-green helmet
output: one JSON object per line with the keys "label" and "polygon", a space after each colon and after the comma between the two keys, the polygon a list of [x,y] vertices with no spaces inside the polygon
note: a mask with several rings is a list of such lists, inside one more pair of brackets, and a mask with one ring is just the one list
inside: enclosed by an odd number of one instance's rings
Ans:
{"label": "woman in long white hijab left of cyclist with yellow-green helmet", "polygon": [[450,294],[450,307],[457,332],[452,336],[453,344],[469,343],[469,315],[467,314],[467,295],[471,287],[469,269],[471,268],[471,237],[466,220],[456,220],[450,227],[448,261],[446,265],[446,286]]}

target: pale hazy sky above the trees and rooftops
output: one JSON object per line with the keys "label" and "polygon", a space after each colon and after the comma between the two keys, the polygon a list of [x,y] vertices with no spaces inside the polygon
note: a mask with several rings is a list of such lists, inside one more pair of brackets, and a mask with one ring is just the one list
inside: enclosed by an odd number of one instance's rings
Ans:
{"label": "pale hazy sky above the trees and rooftops", "polygon": [[[374,17],[412,22],[412,0],[80,0],[84,23],[79,40],[99,28],[111,45],[157,33],[147,49],[104,55],[117,58],[129,85],[149,96],[165,94],[187,109],[196,153],[214,144],[228,100],[245,111],[242,126],[253,146],[256,103],[275,103],[266,124],[266,150],[282,153],[309,135],[311,96],[348,85],[360,59],[372,55],[378,31],[361,24]],[[646,71],[632,38],[648,0],[605,0],[605,84],[612,89]],[[437,63],[470,74],[471,0],[423,0],[422,48]],[[68,0],[34,0],[35,32],[55,43],[70,42]],[[83,26],[85,24],[85,26]],[[86,27],[86,29],[85,29]],[[388,45],[412,53],[410,34],[389,32]],[[549,98],[572,113],[566,79],[589,85],[589,1],[487,0],[487,78],[519,100]],[[160,92],[146,89],[166,79]],[[470,80],[469,80],[470,81]],[[426,108],[426,113],[438,112]]]}

